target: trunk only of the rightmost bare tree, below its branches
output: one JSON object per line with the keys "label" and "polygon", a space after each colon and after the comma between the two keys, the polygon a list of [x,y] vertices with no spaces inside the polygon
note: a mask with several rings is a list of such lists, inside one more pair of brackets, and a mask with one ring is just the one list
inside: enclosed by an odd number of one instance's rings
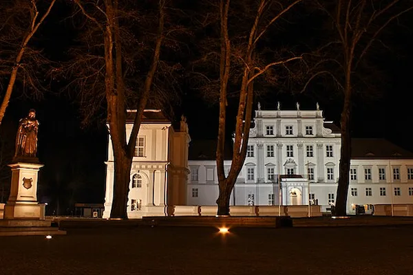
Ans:
{"label": "trunk only of the rightmost bare tree, below its branches", "polygon": [[[350,71],[350,69],[348,69]],[[337,186],[337,201],[335,203],[335,216],[347,214],[347,196],[350,173],[351,137],[350,137],[350,113],[351,113],[351,82],[350,72],[346,76],[344,93],[344,105],[341,112],[341,158],[339,164],[339,185]]]}

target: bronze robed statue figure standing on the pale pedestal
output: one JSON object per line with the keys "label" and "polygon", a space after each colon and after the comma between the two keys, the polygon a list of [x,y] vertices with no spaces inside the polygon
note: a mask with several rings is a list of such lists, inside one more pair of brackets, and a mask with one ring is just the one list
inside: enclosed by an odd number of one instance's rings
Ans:
{"label": "bronze robed statue figure standing on the pale pedestal", "polygon": [[39,121],[36,120],[36,111],[30,109],[28,116],[19,122],[14,159],[36,159],[38,130]]}

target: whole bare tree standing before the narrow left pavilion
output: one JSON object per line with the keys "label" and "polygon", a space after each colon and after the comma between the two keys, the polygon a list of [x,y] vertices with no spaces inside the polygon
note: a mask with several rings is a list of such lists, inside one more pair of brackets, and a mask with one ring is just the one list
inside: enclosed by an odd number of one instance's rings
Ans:
{"label": "whole bare tree standing before the narrow left pavilion", "polygon": [[[80,91],[85,122],[107,114],[114,149],[110,216],[127,219],[129,174],[142,114],[148,102],[167,106],[167,98],[173,93],[162,85],[173,84],[176,78],[172,74],[180,67],[160,60],[161,47],[178,47],[182,28],[169,28],[165,0],[74,2],[77,13],[83,14],[78,22],[83,32],[81,47],[72,50],[74,58],[67,72],[74,79],[71,86]],[[137,109],[129,137],[127,108]]]}

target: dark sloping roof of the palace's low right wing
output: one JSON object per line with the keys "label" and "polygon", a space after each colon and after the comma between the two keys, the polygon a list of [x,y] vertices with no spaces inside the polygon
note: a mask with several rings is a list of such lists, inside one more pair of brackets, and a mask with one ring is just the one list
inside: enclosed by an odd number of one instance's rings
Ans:
{"label": "dark sloping roof of the palace's low right wing", "polygon": [[413,159],[413,153],[382,138],[352,138],[352,159]]}

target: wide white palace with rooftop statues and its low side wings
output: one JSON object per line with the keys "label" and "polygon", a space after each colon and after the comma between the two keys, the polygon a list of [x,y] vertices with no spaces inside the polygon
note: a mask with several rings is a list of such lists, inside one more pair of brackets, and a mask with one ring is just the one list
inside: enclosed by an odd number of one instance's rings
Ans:
{"label": "wide white palace with rooftop statues and its low side wings", "polygon": [[[231,205],[335,204],[341,135],[323,111],[255,111],[244,167]],[[231,147],[227,146],[227,147]],[[192,142],[187,204],[213,206],[218,197],[215,141]],[[231,166],[231,151],[224,166]],[[381,139],[353,139],[348,212],[356,206],[413,203],[413,154]],[[279,188],[281,186],[281,188]]]}

